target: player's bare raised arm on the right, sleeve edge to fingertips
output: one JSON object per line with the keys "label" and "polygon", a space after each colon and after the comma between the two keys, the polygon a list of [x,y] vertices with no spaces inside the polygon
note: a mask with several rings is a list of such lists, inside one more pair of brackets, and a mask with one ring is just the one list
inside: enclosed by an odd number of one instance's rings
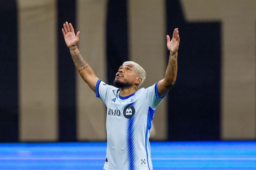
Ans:
{"label": "player's bare raised arm on the right, sleeve edge to fingertips", "polygon": [[180,36],[178,35],[178,28],[174,29],[172,39],[170,36],[166,35],[167,48],[170,51],[169,62],[165,72],[164,79],[158,82],[158,95],[159,97],[165,95],[167,91],[174,85],[177,77],[177,57],[178,57],[178,47],[180,45]]}

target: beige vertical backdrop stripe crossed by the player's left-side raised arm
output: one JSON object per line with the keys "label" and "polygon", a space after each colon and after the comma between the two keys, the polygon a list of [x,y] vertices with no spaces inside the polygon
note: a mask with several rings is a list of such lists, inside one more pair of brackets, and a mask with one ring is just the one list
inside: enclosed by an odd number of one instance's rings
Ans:
{"label": "beige vertical backdrop stripe crossed by the player's left-side raised arm", "polygon": [[[79,49],[95,74],[106,81],[106,15],[107,1],[79,0],[77,31],[81,32]],[[106,107],[76,74],[77,130],[79,140],[106,139]]]}

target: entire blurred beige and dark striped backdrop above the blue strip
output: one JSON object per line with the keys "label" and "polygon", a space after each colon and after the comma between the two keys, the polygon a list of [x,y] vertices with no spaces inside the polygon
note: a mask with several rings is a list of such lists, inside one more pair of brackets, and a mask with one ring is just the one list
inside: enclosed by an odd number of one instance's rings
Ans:
{"label": "entire blurred beige and dark striped backdrop above the blue strip", "polygon": [[255,0],[2,0],[0,142],[106,141],[106,108],[75,70],[65,21],[81,32],[81,55],[100,79],[112,84],[133,60],[146,71],[143,87],[164,77],[166,34],[179,29],[178,76],[156,109],[152,141],[254,141],[255,7]]}

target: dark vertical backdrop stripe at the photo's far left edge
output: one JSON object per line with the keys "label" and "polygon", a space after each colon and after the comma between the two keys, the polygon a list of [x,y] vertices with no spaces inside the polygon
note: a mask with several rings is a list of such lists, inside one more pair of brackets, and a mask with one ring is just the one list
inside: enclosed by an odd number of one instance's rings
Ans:
{"label": "dark vertical backdrop stripe at the photo's far left edge", "polygon": [[17,6],[0,5],[0,142],[18,141]]}

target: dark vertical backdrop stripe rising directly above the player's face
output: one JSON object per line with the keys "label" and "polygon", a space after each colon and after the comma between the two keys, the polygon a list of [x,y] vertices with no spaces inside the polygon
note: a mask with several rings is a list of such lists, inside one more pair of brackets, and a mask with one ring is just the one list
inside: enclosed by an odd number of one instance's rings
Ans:
{"label": "dark vertical backdrop stripe rising directly above the player's face", "polygon": [[112,84],[119,66],[128,61],[127,0],[107,5],[107,80]]}

